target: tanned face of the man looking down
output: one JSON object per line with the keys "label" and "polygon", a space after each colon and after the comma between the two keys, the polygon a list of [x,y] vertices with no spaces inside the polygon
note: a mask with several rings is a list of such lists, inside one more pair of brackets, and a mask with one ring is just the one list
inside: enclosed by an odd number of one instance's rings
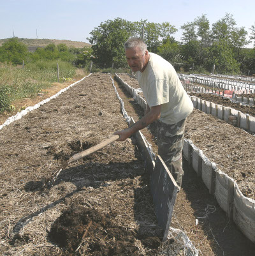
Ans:
{"label": "tanned face of the man looking down", "polygon": [[143,54],[142,50],[139,47],[127,49],[126,59],[128,61],[128,65],[133,72],[143,72],[149,61],[149,52],[146,51],[145,54]]}

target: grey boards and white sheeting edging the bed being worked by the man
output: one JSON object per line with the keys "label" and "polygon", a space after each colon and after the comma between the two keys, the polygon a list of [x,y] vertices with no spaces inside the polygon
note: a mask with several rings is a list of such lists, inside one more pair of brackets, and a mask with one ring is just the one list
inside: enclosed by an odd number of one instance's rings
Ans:
{"label": "grey boards and white sheeting edging the bed being worked by the man", "polygon": [[[124,85],[128,92],[133,95],[133,98],[136,100],[136,102],[139,102],[138,104],[143,107],[143,109],[146,108],[147,103],[137,93],[137,90],[126,84],[122,79],[120,79],[120,77],[116,73],[115,77],[120,82],[120,84]],[[117,92],[113,80],[112,83],[115,91]],[[119,98],[119,94],[117,95]],[[135,123],[135,121],[133,117],[131,117],[130,124],[133,123]],[[140,152],[142,154],[143,160],[145,161],[145,170],[147,170],[147,172],[149,172],[151,176],[150,191],[152,193],[157,220],[159,222],[159,225],[163,227],[164,230],[163,241],[169,239],[172,233],[176,233],[177,237],[179,237],[179,241],[186,241],[184,245],[184,250],[186,250],[187,255],[198,256],[198,250],[196,250],[193,243],[191,243],[189,237],[187,237],[187,235],[182,230],[173,229],[170,227],[171,215],[173,213],[173,206],[175,204],[178,190],[178,185],[176,184],[175,179],[173,179],[173,176],[171,175],[170,171],[168,170],[160,156],[157,156],[156,162],[154,161],[154,153],[147,144],[142,132],[138,131],[135,133],[134,136],[138,143],[138,146],[140,147]],[[157,184],[160,185],[156,186]],[[183,243],[182,241],[180,241],[180,243]]]}

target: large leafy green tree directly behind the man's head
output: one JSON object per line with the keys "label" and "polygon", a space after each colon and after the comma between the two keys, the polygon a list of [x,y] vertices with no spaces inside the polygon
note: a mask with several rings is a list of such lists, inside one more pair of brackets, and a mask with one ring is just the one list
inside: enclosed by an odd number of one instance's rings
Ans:
{"label": "large leafy green tree directly behind the man's head", "polygon": [[170,35],[177,31],[169,22],[162,24],[147,20],[129,22],[120,18],[106,20],[91,31],[91,38],[87,38],[92,44],[96,64],[100,68],[111,67],[112,63],[115,67],[127,66],[123,45],[130,36],[142,36],[143,24],[143,40],[148,50],[152,52],[157,52],[157,47],[162,41],[170,38]]}

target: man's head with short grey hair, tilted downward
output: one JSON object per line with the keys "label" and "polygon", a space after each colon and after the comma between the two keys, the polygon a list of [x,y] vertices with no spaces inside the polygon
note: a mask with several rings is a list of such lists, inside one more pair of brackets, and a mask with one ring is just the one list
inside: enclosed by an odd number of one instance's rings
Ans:
{"label": "man's head with short grey hair, tilted downward", "polygon": [[124,43],[124,49],[132,71],[143,72],[150,58],[145,43],[140,38],[131,37]]}

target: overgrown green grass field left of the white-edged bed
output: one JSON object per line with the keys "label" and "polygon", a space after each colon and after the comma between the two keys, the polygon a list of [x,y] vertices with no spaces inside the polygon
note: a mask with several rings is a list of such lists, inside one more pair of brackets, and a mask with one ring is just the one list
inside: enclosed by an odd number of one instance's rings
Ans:
{"label": "overgrown green grass field left of the white-edged bed", "polygon": [[[75,76],[75,67],[58,61],[59,79]],[[20,67],[0,68],[0,112],[10,110],[10,104],[20,98],[32,98],[42,89],[57,82],[57,62],[38,61]]]}

